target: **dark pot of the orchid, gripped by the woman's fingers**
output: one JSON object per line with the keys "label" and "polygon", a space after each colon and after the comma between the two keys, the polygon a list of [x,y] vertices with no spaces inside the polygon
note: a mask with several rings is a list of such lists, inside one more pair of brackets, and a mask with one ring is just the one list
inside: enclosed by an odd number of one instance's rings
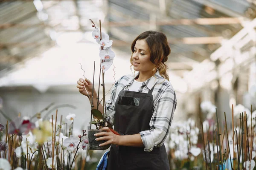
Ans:
{"label": "dark pot of the orchid, gripped by the woman's fingers", "polygon": [[96,137],[96,136],[94,136],[94,134],[100,133],[100,132],[105,132],[105,131],[98,130],[98,129],[87,130],[87,135],[88,135],[88,140],[89,140],[89,144],[88,144],[89,150],[106,150],[111,146],[111,144],[108,144],[105,146],[99,146],[99,144],[106,142],[105,140],[102,140],[102,141],[95,140],[96,138],[99,138],[99,136]]}

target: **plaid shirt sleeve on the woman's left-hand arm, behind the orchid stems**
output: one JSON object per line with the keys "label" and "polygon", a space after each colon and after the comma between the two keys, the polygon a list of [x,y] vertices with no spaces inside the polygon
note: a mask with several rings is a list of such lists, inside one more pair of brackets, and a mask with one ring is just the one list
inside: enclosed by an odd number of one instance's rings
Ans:
{"label": "plaid shirt sleeve on the woman's left-hand arm, behind the orchid stems", "polygon": [[[120,79],[122,79],[122,77]],[[115,112],[114,108],[115,108],[116,97],[117,97],[116,95],[118,95],[118,93],[116,92],[116,89],[117,89],[120,79],[118,79],[116,81],[115,85],[112,88],[110,99],[106,102],[107,114],[110,114],[111,112]],[[114,122],[114,114],[112,116],[107,117],[106,121],[110,122],[111,125],[113,126],[115,123]]]}

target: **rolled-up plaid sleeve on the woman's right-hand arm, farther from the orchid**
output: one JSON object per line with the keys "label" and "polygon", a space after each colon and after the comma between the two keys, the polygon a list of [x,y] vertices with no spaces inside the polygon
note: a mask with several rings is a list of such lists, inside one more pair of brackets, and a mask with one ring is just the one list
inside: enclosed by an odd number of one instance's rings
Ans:
{"label": "rolled-up plaid sleeve on the woman's right-hand arm, farther from the orchid", "polygon": [[151,152],[154,147],[159,147],[163,144],[169,133],[176,105],[175,91],[172,86],[169,86],[154,103],[150,130],[140,132],[145,152]]}

